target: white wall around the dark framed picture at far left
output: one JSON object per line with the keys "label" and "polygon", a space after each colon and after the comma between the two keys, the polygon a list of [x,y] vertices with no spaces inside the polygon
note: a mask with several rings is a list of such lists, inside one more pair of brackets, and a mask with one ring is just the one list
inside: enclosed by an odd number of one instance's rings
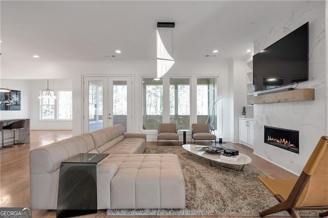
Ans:
{"label": "white wall around the dark framed picture at far left", "polygon": [[20,111],[0,111],[0,119],[29,119],[30,118],[30,85],[25,80],[0,80],[0,86],[20,91]]}

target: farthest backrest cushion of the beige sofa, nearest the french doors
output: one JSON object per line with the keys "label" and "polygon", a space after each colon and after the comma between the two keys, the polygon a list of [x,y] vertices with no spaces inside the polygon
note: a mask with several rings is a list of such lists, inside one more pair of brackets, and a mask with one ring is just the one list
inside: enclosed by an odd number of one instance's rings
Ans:
{"label": "farthest backrest cushion of the beige sofa, nearest the french doors", "polygon": [[[106,127],[103,129],[96,130],[94,132],[89,133],[92,136],[94,142],[94,148],[98,150],[98,147],[106,144],[107,142],[114,140],[114,143],[110,143],[106,146],[106,148],[101,150],[107,150],[110,147],[114,146],[119,141],[123,140],[124,137],[119,137],[124,134],[124,128],[122,125],[113,125],[110,127]],[[119,137],[119,138],[118,138]],[[99,150],[98,150],[99,151]],[[101,151],[99,151],[101,153]]]}

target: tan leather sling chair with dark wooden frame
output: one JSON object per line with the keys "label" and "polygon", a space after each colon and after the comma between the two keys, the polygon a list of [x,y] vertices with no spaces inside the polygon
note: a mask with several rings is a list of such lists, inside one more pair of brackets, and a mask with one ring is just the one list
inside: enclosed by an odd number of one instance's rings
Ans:
{"label": "tan leather sling chair with dark wooden frame", "polygon": [[[286,210],[300,217],[296,210],[328,209],[328,137],[322,136],[298,179],[258,179],[279,201],[279,204],[260,212],[260,216]],[[328,211],[319,213],[327,216]]]}

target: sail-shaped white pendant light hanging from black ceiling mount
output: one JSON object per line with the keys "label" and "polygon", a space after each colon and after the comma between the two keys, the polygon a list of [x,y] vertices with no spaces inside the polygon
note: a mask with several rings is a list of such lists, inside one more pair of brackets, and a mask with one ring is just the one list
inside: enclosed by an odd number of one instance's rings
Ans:
{"label": "sail-shaped white pendant light hanging from black ceiling mount", "polygon": [[[157,23],[157,78],[162,77],[166,74],[170,68],[173,66],[175,59],[169,54],[168,50],[165,48],[163,41],[159,35],[159,28],[174,28],[174,23]],[[172,29],[172,53],[173,53],[173,29]]]}

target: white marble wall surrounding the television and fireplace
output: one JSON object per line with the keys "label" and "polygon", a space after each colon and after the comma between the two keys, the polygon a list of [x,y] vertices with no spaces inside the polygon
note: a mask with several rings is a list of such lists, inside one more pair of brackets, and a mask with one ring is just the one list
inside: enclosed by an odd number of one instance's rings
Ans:
{"label": "white marble wall surrounding the television and fireplace", "polygon": [[[315,88],[315,101],[283,102],[254,105],[254,153],[300,174],[314,147],[326,133],[326,57],[325,2],[309,2],[291,12],[281,26],[268,27],[268,34],[254,42],[254,54],[286,34],[310,22],[309,81],[298,89]],[[264,125],[299,131],[299,154],[263,143]]]}

